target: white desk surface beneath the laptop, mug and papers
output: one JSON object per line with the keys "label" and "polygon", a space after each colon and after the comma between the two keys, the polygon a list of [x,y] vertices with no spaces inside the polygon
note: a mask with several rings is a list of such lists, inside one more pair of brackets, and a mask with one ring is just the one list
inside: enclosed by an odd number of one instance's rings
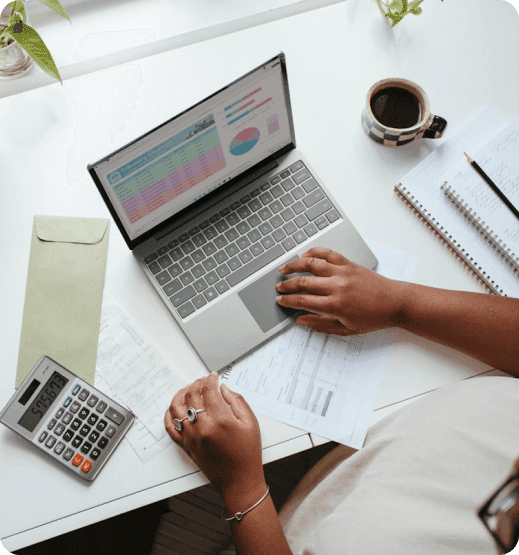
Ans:
{"label": "white desk surface beneath the laptop, mug and papers", "polygon": [[[399,178],[436,143],[381,147],[364,135],[360,113],[372,83],[403,76],[424,87],[450,129],[484,105],[512,120],[519,24],[515,9],[502,0],[425,4],[422,15],[408,16],[391,31],[374,1],[350,0],[1,100],[0,402],[13,392],[33,216],[108,217],[87,162],[279,50],[287,55],[298,146],[359,231],[417,256],[419,283],[481,291],[393,193]],[[193,379],[205,372],[114,224],[105,287]],[[469,357],[402,334],[377,407],[392,410],[397,402],[486,370]],[[374,419],[377,413],[382,411]],[[265,462],[311,446],[308,434],[289,426],[262,418],[261,428]],[[124,443],[96,482],[85,486],[5,428],[0,468],[0,537],[10,550],[205,482],[175,445],[144,465]],[[49,495],[52,488],[60,495]]]}

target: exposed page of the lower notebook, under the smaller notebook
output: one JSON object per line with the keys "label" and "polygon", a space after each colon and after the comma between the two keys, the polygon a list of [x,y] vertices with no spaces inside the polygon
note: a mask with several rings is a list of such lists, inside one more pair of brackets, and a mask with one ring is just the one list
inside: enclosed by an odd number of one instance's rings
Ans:
{"label": "exposed page of the lower notebook, under the smaller notebook", "polygon": [[446,237],[474,259],[481,272],[511,297],[519,297],[519,277],[483,235],[463,217],[440,186],[467,164],[463,152],[477,152],[506,127],[506,122],[491,108],[485,108],[450,135],[436,150],[411,170],[401,181],[413,203],[430,215]]}

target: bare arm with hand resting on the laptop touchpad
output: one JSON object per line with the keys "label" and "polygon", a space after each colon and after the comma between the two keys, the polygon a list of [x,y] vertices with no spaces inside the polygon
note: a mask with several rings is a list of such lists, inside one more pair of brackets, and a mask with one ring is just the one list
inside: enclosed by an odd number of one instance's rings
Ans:
{"label": "bare arm with hand resting on the laptop touchpad", "polygon": [[390,280],[319,248],[279,271],[312,274],[278,284],[291,293],[280,305],[314,313],[300,325],[336,335],[400,326],[519,377],[519,299]]}

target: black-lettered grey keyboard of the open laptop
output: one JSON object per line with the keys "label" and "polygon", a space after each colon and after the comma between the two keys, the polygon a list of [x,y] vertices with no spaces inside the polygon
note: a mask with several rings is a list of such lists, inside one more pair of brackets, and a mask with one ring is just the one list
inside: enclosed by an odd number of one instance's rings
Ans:
{"label": "black-lettered grey keyboard of the open laptop", "polygon": [[187,318],[340,218],[299,161],[144,262]]}

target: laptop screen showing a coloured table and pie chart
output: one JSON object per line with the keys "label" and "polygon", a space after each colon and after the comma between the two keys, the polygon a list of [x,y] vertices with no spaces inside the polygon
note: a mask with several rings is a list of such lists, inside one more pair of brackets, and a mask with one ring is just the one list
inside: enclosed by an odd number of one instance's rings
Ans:
{"label": "laptop screen showing a coloured table and pie chart", "polygon": [[280,54],[88,169],[128,242],[294,142]]}

